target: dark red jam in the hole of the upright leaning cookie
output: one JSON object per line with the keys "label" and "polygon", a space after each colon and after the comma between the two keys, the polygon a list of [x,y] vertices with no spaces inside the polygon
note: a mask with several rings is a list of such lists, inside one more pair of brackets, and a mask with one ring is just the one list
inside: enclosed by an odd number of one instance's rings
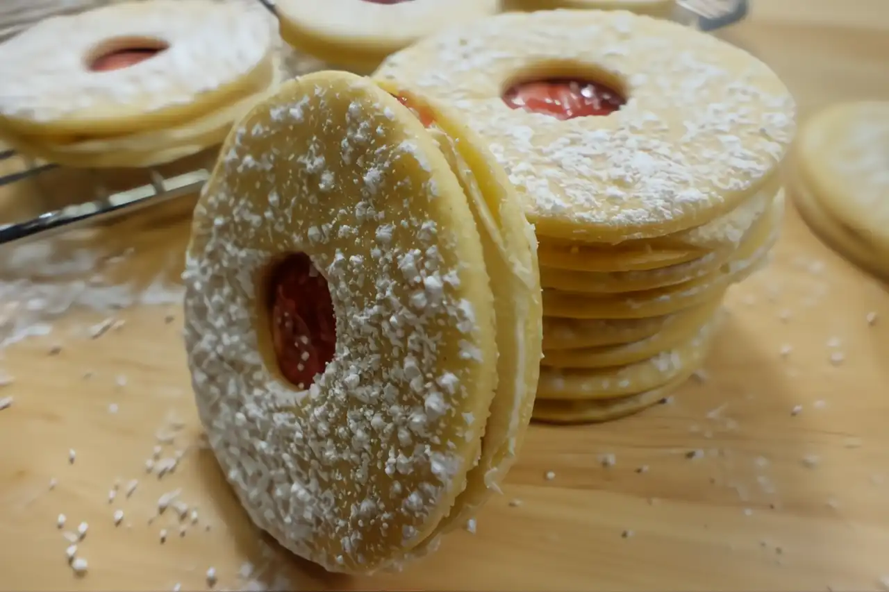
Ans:
{"label": "dark red jam in the hole of the upright leaning cookie", "polygon": [[288,255],[269,277],[272,346],[278,368],[296,388],[308,388],[336,349],[331,292],[308,255]]}

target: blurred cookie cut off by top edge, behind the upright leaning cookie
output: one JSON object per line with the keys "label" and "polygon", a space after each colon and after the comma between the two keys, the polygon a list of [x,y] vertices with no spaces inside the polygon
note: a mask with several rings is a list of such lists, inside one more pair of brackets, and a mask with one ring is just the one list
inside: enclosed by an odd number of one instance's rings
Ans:
{"label": "blurred cookie cut off by top edge, behind the upright leaning cookie", "polygon": [[[370,73],[440,28],[494,14],[498,0],[277,0],[281,36],[328,63]],[[407,81],[404,81],[407,82]]]}

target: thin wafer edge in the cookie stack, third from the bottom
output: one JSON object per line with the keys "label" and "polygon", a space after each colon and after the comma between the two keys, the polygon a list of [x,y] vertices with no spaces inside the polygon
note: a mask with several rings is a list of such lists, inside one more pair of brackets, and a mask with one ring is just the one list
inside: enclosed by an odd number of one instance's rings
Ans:
{"label": "thin wafer edge in the cookie stack, third from the bottom", "polygon": [[607,368],[640,362],[691,339],[712,320],[721,302],[720,296],[693,308],[683,324],[670,324],[643,340],[597,348],[554,349],[546,353],[541,364],[549,368]]}

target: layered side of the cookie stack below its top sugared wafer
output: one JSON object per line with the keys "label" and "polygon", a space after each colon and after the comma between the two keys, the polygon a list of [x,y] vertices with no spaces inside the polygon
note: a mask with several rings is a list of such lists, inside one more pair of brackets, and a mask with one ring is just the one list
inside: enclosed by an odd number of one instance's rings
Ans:
{"label": "layered side of the cookie stack below its top sugared wafer", "polygon": [[760,268],[784,211],[777,185],[672,236],[616,245],[539,236],[543,360],[534,418],[613,420],[701,368],[726,290]]}

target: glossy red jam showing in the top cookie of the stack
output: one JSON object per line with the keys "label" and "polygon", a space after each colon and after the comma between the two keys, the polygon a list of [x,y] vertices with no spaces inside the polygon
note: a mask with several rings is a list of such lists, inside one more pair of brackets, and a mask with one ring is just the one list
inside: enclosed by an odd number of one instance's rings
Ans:
{"label": "glossy red jam showing in the top cookie of the stack", "polygon": [[509,108],[561,119],[607,116],[627,100],[605,84],[588,80],[550,78],[517,84],[503,95]]}

